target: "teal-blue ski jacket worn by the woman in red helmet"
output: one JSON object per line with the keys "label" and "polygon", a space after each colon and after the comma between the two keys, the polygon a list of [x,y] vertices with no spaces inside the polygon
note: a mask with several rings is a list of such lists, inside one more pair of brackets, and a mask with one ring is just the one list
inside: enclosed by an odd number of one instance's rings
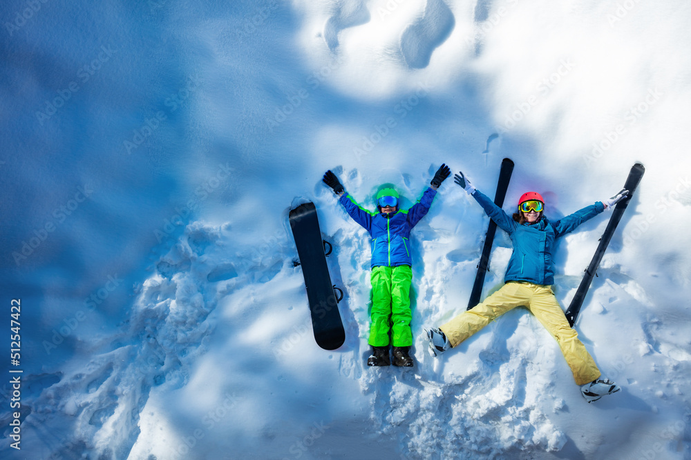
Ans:
{"label": "teal-blue ski jacket worn by the woman in red helmet", "polygon": [[513,242],[513,253],[504,275],[505,283],[528,281],[542,285],[554,284],[552,251],[556,239],[605,210],[605,205],[597,201],[558,221],[551,222],[542,216],[532,225],[521,225],[479,190],[473,192],[473,198],[499,228],[509,233]]}

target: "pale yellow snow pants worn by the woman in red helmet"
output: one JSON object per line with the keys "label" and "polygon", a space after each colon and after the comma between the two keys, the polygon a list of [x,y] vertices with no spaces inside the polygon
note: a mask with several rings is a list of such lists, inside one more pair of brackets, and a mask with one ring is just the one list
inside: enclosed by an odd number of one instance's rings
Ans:
{"label": "pale yellow snow pants worn by the woman in red helmet", "polygon": [[509,281],[482,303],[462,312],[440,329],[455,347],[490,321],[518,306],[526,307],[556,339],[578,385],[600,377],[598,366],[578,339],[576,330],[569,326],[550,286]]}

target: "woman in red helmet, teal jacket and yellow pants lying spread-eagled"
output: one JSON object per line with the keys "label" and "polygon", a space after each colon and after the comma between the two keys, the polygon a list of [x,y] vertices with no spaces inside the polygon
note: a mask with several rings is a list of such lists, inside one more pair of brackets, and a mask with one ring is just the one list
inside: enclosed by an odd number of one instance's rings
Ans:
{"label": "woman in red helmet, teal jacket and yellow pants lying spread-eagled", "polygon": [[554,283],[552,251],[554,242],[581,223],[592,219],[605,208],[624,199],[628,190],[621,190],[604,202],[596,202],[558,221],[542,215],[545,200],[536,192],[527,192],[518,201],[518,212],[509,216],[482,192],[476,190],[462,172],[455,174],[455,183],[464,188],[484,208],[497,226],[509,233],[513,253],[504,276],[504,286],[484,302],[462,312],[439,328],[426,328],[429,351],[433,356],[455,347],[491,321],[509,310],[526,307],[549,331],[561,348],[576,383],[588,402],[620,390],[614,382],[601,379],[595,361],[569,326],[564,311],[551,290]]}

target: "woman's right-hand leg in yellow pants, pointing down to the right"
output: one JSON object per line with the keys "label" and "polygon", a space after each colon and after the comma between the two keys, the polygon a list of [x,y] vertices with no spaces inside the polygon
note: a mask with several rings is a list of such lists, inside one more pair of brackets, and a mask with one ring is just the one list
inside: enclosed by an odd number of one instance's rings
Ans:
{"label": "woman's right-hand leg in yellow pants, pointing down to the right", "polygon": [[528,309],[556,339],[578,385],[585,385],[600,377],[598,366],[578,339],[576,330],[569,326],[564,310],[549,286],[535,286]]}

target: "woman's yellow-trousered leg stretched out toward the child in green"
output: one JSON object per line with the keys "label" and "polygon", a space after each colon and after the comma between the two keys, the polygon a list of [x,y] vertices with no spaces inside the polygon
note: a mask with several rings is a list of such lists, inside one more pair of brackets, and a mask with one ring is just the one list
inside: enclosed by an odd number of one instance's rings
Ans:
{"label": "woman's yellow-trousered leg stretched out toward the child in green", "polygon": [[455,347],[502,314],[520,305],[526,305],[530,294],[531,291],[521,283],[506,283],[482,303],[462,312],[439,329],[444,332],[451,346]]}

